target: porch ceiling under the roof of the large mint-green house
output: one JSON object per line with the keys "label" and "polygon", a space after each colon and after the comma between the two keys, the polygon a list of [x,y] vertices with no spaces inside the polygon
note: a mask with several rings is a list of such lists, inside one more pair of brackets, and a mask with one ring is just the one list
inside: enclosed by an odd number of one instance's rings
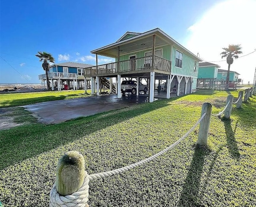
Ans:
{"label": "porch ceiling under the roof of the large mint-green house", "polygon": [[[161,47],[166,45],[167,42],[156,36],[155,47]],[[117,45],[115,47],[106,48],[102,51],[97,52],[98,55],[104,55],[108,57],[117,57],[118,56],[118,46],[120,47],[120,55],[124,55],[131,52],[136,52],[140,50],[152,50],[153,46],[153,37],[152,35],[144,37],[142,39],[135,39],[134,41],[129,41]]]}

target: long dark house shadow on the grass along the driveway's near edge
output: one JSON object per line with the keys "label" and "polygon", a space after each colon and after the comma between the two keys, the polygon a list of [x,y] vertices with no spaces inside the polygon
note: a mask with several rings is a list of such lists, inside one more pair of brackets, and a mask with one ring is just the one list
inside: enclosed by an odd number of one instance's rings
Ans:
{"label": "long dark house shadow on the grass along the driveway's near edge", "polygon": [[[170,99],[174,101],[180,97]],[[40,123],[17,126],[0,131],[0,170],[32,158],[43,152],[57,148],[83,138],[98,130],[124,122],[135,116],[162,108],[169,101],[159,100],[153,103],[139,104],[132,108],[104,112],[87,117],[78,117],[60,124]]]}

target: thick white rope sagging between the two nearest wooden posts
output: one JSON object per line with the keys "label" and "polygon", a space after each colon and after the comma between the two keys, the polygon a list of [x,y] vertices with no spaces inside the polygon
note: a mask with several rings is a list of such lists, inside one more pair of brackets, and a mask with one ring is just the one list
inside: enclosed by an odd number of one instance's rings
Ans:
{"label": "thick white rope sagging between the two nearest wooden posts", "polygon": [[119,174],[119,173],[122,173],[122,172],[125,172],[125,171],[128,171],[128,170],[131,170],[132,168],[141,166],[141,165],[143,165],[143,164],[145,164],[147,162],[150,162],[150,161],[156,159],[157,157],[161,156],[162,154],[168,152],[170,149],[174,148],[182,140],[184,140],[196,128],[196,126],[203,120],[205,115],[206,115],[206,113],[204,113],[201,116],[201,118],[196,122],[196,124],[194,124],[194,126],[192,126],[192,128],[190,128],[190,130],[188,130],[188,132],[184,136],[182,136],[179,140],[177,140],[176,142],[174,142],[172,145],[170,145],[169,147],[165,148],[161,152],[158,152],[157,154],[154,154],[151,157],[146,158],[145,160],[142,160],[140,162],[136,162],[134,164],[131,164],[131,165],[123,167],[123,168],[119,168],[119,169],[116,169],[116,170],[111,170],[111,171],[108,171],[108,172],[91,174],[91,175],[89,175],[89,179],[92,180],[92,179],[108,177],[108,176],[111,176],[111,175],[116,175],[116,174]]}

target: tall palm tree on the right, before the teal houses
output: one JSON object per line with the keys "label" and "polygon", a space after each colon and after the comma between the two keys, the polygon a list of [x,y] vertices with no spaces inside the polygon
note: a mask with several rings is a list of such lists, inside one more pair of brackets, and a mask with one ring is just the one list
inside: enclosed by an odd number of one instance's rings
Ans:
{"label": "tall palm tree on the right, before the teal houses", "polygon": [[228,45],[228,47],[223,47],[224,51],[220,53],[221,58],[227,57],[227,63],[228,63],[228,74],[226,78],[226,87],[225,89],[228,89],[228,83],[229,83],[229,73],[230,73],[230,65],[233,63],[234,59],[238,59],[238,55],[242,54],[241,51],[242,47],[241,45]]}

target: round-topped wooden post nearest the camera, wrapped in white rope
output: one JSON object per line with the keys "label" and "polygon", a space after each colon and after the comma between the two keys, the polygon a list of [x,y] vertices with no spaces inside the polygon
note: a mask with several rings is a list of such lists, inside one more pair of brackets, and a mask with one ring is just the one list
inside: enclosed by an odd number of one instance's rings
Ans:
{"label": "round-topped wooden post nearest the camera, wrapped in white rope", "polygon": [[[86,179],[86,180],[85,180]],[[88,185],[89,176],[87,172],[84,170],[84,157],[77,151],[66,152],[59,160],[56,171],[56,191],[60,196],[68,196],[70,199],[70,195],[72,193],[78,194],[78,190],[86,183]],[[88,189],[89,186],[86,187],[83,195],[76,199],[74,203],[72,201],[67,201],[67,206],[85,206],[88,207]],[[80,189],[81,190],[81,189]],[[80,192],[81,193],[81,192]],[[52,195],[54,193],[50,193],[50,207],[59,206],[56,204],[56,198]],[[56,193],[55,193],[56,194]],[[87,195],[86,195],[87,194]],[[52,196],[52,197],[51,197]],[[74,195],[73,197],[78,197],[79,195]],[[86,197],[87,196],[87,197]],[[66,200],[68,200],[66,199]],[[70,203],[68,203],[70,202]],[[73,205],[68,205],[73,204]]]}

